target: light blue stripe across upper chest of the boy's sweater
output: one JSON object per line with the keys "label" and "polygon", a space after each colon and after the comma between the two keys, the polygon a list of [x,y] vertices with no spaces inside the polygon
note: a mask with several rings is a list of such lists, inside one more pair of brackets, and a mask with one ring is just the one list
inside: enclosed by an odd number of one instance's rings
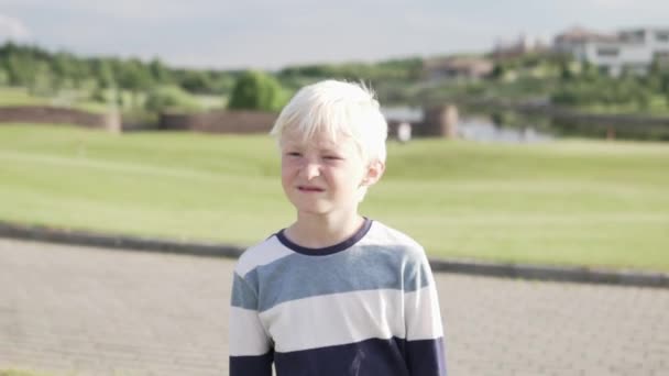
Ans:
{"label": "light blue stripe across upper chest of the boy's sweater", "polygon": [[[328,256],[293,254],[251,270],[259,311],[285,301],[373,289],[416,291],[429,284],[421,251],[405,246],[355,246]],[[241,306],[240,306],[241,307]]]}

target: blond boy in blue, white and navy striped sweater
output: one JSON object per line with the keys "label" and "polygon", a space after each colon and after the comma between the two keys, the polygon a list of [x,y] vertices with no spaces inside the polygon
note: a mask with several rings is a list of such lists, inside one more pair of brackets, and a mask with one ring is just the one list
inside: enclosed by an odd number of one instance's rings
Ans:
{"label": "blond boy in blue, white and navy striped sweater", "polygon": [[387,124],[364,87],[300,89],[272,134],[288,228],[246,250],[233,276],[230,375],[446,375],[423,247],[358,213],[385,168]]}

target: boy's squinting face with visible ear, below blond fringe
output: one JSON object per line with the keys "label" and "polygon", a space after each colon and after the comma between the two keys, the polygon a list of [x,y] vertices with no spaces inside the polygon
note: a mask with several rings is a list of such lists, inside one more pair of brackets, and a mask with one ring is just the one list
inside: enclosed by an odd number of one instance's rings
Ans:
{"label": "boy's squinting face with visible ear, below blond fringe", "polygon": [[336,141],[325,133],[306,143],[290,131],[282,136],[282,185],[301,214],[357,211],[360,187],[383,173],[382,165],[368,166],[353,139],[340,134]]}

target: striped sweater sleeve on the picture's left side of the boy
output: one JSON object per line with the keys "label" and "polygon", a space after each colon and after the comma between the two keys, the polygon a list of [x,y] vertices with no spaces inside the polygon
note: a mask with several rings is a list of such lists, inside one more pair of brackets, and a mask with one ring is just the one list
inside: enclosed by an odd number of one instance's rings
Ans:
{"label": "striped sweater sleeve on the picture's left side of the boy", "polygon": [[230,376],[272,375],[272,340],[260,321],[254,285],[234,273],[229,322]]}

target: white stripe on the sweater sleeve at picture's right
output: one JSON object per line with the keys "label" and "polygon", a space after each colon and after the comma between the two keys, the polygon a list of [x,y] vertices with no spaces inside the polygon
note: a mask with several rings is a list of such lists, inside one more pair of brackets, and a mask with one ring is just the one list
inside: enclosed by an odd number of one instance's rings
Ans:
{"label": "white stripe on the sweater sleeve at picture's right", "polygon": [[406,339],[434,340],[443,335],[439,297],[435,284],[405,295]]}

